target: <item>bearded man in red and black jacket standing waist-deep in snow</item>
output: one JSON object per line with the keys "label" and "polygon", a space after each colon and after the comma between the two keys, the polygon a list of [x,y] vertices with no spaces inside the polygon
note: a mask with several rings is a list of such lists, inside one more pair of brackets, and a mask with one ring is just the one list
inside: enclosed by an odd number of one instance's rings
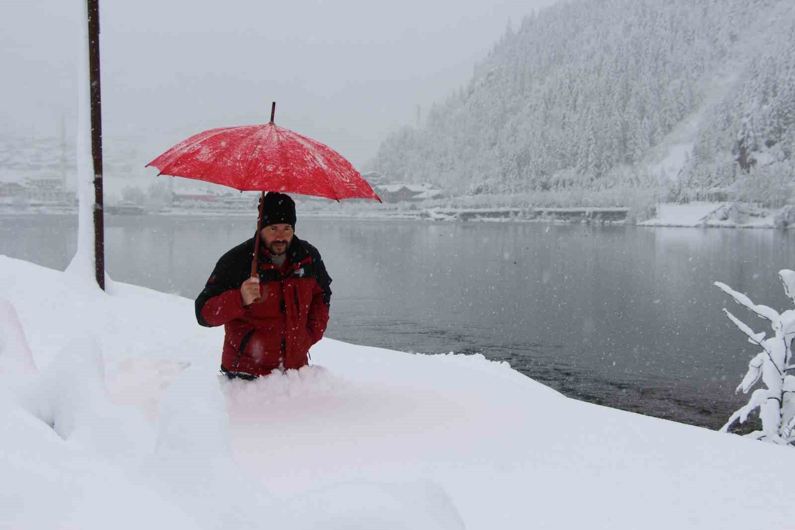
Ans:
{"label": "bearded man in red and black jacket standing waist-deep in snow", "polygon": [[221,372],[254,379],[308,364],[328,324],[332,279],[315,247],[295,236],[296,206],[268,193],[262,212],[258,277],[249,278],[254,238],[221,256],[196,298],[201,325],[224,325]]}

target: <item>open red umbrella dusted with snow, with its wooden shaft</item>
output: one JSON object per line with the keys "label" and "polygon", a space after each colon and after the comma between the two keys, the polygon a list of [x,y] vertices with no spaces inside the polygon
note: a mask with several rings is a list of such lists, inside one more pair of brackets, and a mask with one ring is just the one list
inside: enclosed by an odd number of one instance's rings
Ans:
{"label": "open red umbrella dusted with snow, with its wooden shaft", "polygon": [[159,175],[194,178],[241,191],[261,191],[254,262],[257,274],[262,198],[266,191],[381,202],[351,162],[332,148],[273,123],[211,129],[184,140],[149,162]]}

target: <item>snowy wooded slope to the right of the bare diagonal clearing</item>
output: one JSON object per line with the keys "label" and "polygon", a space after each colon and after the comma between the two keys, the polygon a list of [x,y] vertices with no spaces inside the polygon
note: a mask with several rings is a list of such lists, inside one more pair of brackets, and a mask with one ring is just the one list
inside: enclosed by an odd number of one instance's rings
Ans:
{"label": "snowy wooded slope to the right of the bare diagonal clearing", "polygon": [[762,33],[735,82],[705,109],[679,182],[690,195],[795,200],[795,23],[771,22],[777,31]]}

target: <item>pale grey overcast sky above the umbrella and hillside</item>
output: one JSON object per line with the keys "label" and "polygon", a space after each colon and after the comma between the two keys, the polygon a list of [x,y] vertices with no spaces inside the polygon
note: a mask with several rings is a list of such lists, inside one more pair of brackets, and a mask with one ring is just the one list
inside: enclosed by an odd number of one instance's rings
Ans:
{"label": "pale grey overcast sky above the umbrella and hillside", "polygon": [[[277,124],[359,166],[417,103],[467,82],[509,19],[554,1],[100,0],[105,141],[140,138],[151,159],[204,129],[266,123],[275,100]],[[54,136],[62,115],[74,130],[84,5],[2,2],[0,132]]]}

